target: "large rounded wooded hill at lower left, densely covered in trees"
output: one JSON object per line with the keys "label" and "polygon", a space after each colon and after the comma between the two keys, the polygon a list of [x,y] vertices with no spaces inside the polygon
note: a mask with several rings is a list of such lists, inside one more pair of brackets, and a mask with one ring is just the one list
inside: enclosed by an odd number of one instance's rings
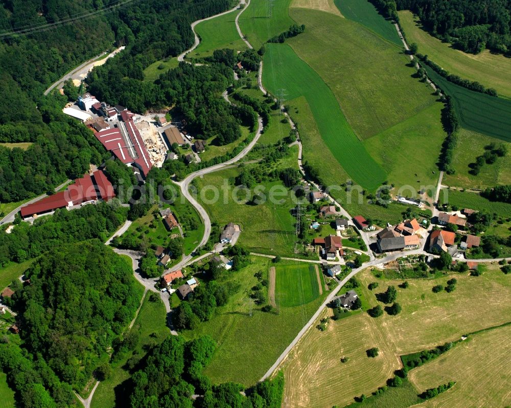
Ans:
{"label": "large rounded wooded hill at lower left, densely covered in trees", "polygon": [[21,347],[80,390],[140,303],[131,265],[92,240],[54,247],[26,277],[30,283],[16,281],[10,299]]}

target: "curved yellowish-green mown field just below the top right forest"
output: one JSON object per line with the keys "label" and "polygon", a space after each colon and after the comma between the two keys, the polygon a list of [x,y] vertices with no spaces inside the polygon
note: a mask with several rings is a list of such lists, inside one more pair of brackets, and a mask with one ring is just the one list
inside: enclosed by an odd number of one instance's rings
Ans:
{"label": "curved yellowish-green mown field just below the top right forest", "polygon": [[489,50],[477,55],[455,50],[451,44],[422,30],[419,17],[410,11],[400,11],[398,14],[406,39],[409,43],[416,42],[421,54],[427,55],[450,74],[480,82],[511,98],[511,59],[491,54]]}

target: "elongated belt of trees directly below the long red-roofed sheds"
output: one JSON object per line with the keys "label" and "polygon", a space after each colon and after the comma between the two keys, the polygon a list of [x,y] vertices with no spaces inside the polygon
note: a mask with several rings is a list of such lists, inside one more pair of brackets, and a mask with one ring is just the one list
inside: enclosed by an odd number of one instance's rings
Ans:
{"label": "elongated belt of trees directly below the long red-roofed sheds", "polygon": [[10,234],[0,231],[0,266],[22,262],[54,247],[84,239],[106,241],[126,221],[126,208],[99,203],[73,211],[57,209],[52,216],[41,217],[33,225],[22,222]]}

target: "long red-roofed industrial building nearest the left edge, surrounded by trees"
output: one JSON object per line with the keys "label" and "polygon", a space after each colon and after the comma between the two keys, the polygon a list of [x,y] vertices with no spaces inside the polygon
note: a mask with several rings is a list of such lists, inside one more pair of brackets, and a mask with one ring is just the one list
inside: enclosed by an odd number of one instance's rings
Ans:
{"label": "long red-roofed industrial building nearest the left edge, surrounded by trees", "polygon": [[92,176],[94,180],[89,174],[86,174],[82,178],[76,179],[75,184],[68,186],[65,191],[59,191],[59,193],[21,207],[21,217],[25,219],[55,211],[57,208],[94,202],[99,197],[104,201],[115,197],[112,184],[101,170],[97,170]]}

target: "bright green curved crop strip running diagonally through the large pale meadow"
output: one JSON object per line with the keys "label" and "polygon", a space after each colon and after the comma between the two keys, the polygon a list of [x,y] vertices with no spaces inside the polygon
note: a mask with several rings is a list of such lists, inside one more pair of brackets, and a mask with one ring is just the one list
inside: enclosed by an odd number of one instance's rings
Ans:
{"label": "bright green curved crop strip running diagonally through the large pale meadow", "polygon": [[302,95],[307,99],[321,137],[357,183],[376,188],[385,179],[383,169],[369,156],[347,123],[332,91],[291,47],[286,44],[267,45],[263,82],[275,95],[285,92],[282,96],[287,101]]}

